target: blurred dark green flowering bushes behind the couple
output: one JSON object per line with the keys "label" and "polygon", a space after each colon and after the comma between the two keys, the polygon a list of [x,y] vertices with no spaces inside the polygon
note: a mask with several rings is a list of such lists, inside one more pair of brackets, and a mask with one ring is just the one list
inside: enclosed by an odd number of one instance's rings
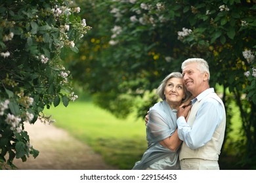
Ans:
{"label": "blurred dark green flowering bushes behind the couple", "polygon": [[[209,62],[211,86],[221,86],[229,138],[231,103],[240,110],[242,133],[226,142],[239,166],[255,169],[256,2],[253,0],[78,1],[94,31],[68,63],[74,78],[95,101],[119,117],[135,108],[144,116],[158,98],[152,93],[165,75],[181,71],[184,59]],[[89,40],[89,39],[88,39]]]}

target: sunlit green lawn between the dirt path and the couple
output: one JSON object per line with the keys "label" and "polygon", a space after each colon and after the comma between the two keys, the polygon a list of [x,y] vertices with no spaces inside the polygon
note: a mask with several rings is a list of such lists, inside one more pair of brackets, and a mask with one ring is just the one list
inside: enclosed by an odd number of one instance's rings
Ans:
{"label": "sunlit green lawn between the dirt path and the couple", "polygon": [[56,120],[54,125],[89,144],[106,163],[117,169],[131,169],[146,150],[146,128],[133,116],[125,120],[96,107],[91,102],[75,101],[44,110]]}

